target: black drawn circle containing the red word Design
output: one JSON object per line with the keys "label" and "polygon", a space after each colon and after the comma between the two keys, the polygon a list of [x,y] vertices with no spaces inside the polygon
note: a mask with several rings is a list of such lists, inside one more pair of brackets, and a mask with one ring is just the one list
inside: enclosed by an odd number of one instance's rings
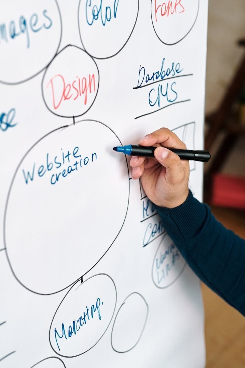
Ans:
{"label": "black drawn circle containing the red word Design", "polygon": [[51,113],[62,117],[85,114],[93,105],[99,88],[96,62],[77,46],[64,47],[43,75],[42,93]]}

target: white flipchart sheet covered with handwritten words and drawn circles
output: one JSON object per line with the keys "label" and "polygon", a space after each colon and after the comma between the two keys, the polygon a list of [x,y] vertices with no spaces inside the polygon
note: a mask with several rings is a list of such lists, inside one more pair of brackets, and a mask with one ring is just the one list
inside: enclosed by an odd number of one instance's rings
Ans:
{"label": "white flipchart sheet covered with handwritten words and drawn circles", "polygon": [[112,147],[165,126],[202,149],[207,7],[4,4],[1,367],[205,366],[199,280]]}

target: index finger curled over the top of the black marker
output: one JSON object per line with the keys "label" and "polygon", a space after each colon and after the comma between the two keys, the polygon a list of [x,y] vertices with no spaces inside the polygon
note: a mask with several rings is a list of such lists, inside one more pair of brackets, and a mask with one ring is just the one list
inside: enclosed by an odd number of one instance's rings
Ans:
{"label": "index finger curled over the top of the black marker", "polygon": [[140,145],[142,146],[153,146],[156,144],[161,144],[169,148],[186,149],[184,142],[182,142],[176,134],[167,128],[160,128],[151,134],[147,134],[140,140]]}

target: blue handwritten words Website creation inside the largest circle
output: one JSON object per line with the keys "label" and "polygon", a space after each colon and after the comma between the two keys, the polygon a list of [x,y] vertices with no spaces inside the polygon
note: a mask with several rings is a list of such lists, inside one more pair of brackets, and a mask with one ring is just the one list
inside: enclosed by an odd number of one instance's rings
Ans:
{"label": "blue handwritten words Website creation inside the largest circle", "polygon": [[[37,177],[43,177],[44,174],[51,171],[52,175],[50,178],[50,183],[56,184],[62,177],[65,178],[68,174],[71,174],[74,171],[78,171],[83,166],[87,166],[89,162],[93,163],[94,161],[97,160],[96,152],[91,154],[91,159],[89,159],[88,157],[82,158],[82,155],[79,155],[78,146],[76,146],[73,149],[72,153],[68,150],[67,153],[65,154],[62,148],[61,151],[62,153],[60,155],[55,156],[53,160],[49,159],[49,154],[47,153],[45,164],[40,165],[38,169],[36,169],[35,162],[33,163],[32,170],[29,171],[22,169],[25,183],[28,184],[30,183],[30,181],[33,181],[35,179],[35,173]],[[55,171],[57,169],[59,170]]]}

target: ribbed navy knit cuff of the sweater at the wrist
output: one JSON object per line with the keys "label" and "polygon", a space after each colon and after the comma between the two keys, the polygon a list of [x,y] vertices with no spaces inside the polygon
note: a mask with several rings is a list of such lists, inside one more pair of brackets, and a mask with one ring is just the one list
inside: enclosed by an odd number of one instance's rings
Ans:
{"label": "ribbed navy knit cuff of the sweater at the wrist", "polygon": [[195,199],[190,190],[187,199],[180,206],[174,208],[156,206],[156,210],[167,233],[185,240],[192,238],[201,230],[207,216],[206,205]]}

